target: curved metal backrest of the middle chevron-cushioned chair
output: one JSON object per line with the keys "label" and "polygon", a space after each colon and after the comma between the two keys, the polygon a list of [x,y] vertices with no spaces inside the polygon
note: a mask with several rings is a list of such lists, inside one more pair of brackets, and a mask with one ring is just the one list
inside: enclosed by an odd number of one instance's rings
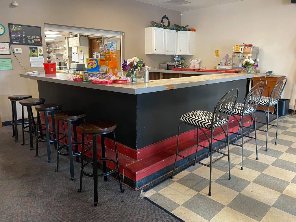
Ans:
{"label": "curved metal backrest of the middle chevron-cushioned chair", "polygon": [[257,106],[263,94],[263,90],[264,83],[262,81],[253,86],[253,88],[248,92],[246,98],[244,99],[243,113],[245,112],[245,110],[249,109],[249,107],[253,107],[254,111],[257,109]]}

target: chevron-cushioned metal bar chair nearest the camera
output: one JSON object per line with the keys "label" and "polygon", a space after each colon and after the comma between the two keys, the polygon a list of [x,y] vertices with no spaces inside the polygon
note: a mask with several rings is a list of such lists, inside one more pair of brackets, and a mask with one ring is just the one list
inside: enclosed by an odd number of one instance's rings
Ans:
{"label": "chevron-cushioned metal bar chair nearest the camera", "polygon": [[[177,163],[177,158],[178,156],[185,158],[187,160],[193,161],[194,163],[199,163],[201,165],[207,166],[210,168],[210,189],[209,189],[209,196],[211,196],[211,183],[212,183],[212,164],[215,163],[216,161],[220,160],[224,156],[228,156],[228,167],[229,167],[229,180],[231,180],[231,174],[230,174],[230,156],[229,156],[229,140],[228,140],[228,132],[229,132],[229,119],[231,117],[231,114],[233,112],[233,109],[235,107],[235,104],[237,102],[237,97],[239,94],[239,90],[237,88],[231,89],[229,92],[227,92],[222,98],[219,100],[217,105],[214,108],[214,112],[207,112],[207,111],[202,111],[202,110],[196,110],[192,112],[185,113],[180,117],[181,123],[178,126],[178,139],[177,139],[177,150],[176,150],[176,159],[175,159],[175,164],[173,168],[173,174],[171,178],[174,178],[174,173],[176,169],[176,163]],[[220,107],[224,107],[222,111],[220,111]],[[226,108],[228,107],[228,108]],[[197,135],[197,144],[188,147],[182,151],[179,152],[179,135],[180,135],[180,126],[182,124],[186,124],[189,126],[193,126],[197,128],[197,132],[200,129],[206,136],[207,141],[209,143],[209,147],[202,146],[199,144],[198,141],[198,135]],[[223,128],[223,126],[226,126],[226,131]],[[227,144],[228,147],[228,153],[223,153],[220,152],[216,149],[213,149],[213,137],[214,137],[214,130],[217,128],[222,128],[223,132],[225,134],[226,141],[223,141],[224,143]],[[205,130],[210,130],[211,131],[211,139],[205,132]],[[180,153],[186,151],[187,149],[191,149],[192,147],[196,147],[196,153],[195,153],[195,159],[190,159],[188,157],[182,156]],[[197,161],[197,151],[198,147],[203,147],[205,149],[209,150],[210,154],[210,164],[204,164],[199,161]],[[217,158],[215,161],[212,161],[212,153],[213,151],[218,152],[222,154],[221,157]]]}

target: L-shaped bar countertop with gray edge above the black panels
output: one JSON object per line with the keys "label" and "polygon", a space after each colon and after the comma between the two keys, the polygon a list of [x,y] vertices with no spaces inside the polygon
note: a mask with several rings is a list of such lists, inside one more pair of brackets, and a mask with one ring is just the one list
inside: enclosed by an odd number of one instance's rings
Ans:
{"label": "L-shaped bar countertop with gray edge above the black panels", "polygon": [[40,73],[36,75],[20,74],[20,77],[36,79],[39,81],[54,82],[60,84],[67,84],[72,86],[80,86],[91,89],[100,89],[106,91],[114,91],[128,94],[142,94],[157,91],[165,91],[170,89],[180,89],[192,86],[201,86],[213,83],[222,83],[228,81],[235,81],[240,79],[253,78],[257,76],[264,76],[265,74],[247,74],[247,73],[218,73],[212,75],[199,75],[191,77],[181,77],[172,79],[161,79],[149,81],[149,83],[137,82],[137,83],[124,83],[117,84],[112,83],[109,85],[92,84],[90,82],[74,82],[73,80],[66,80],[69,74],[56,73],[47,74]]}

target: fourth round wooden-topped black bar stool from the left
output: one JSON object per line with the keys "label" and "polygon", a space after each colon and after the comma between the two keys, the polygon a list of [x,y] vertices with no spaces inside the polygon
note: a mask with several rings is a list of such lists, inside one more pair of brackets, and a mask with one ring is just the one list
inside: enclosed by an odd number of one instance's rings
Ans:
{"label": "fourth round wooden-topped black bar stool from the left", "polygon": [[[79,163],[79,155],[81,153],[85,153],[87,151],[90,152],[90,146],[89,146],[89,138],[87,137],[88,144],[84,143],[84,135],[82,134],[82,142],[78,143],[77,141],[77,132],[76,132],[76,121],[83,120],[85,122],[86,113],[83,110],[65,110],[61,112],[57,112],[54,114],[54,118],[57,120],[57,132],[59,132],[59,121],[62,121],[62,124],[64,122],[67,122],[67,133],[68,133],[68,144],[67,140],[66,144],[57,148],[57,168],[54,170],[55,172],[59,171],[59,155],[62,156],[69,156],[70,157],[70,179],[74,180],[74,165],[73,165],[73,156],[76,156],[76,162]],[[74,137],[74,143],[72,143],[72,130],[71,130],[71,123],[73,126],[73,137]],[[57,138],[57,144],[59,144],[59,138]],[[83,145],[82,145],[83,144]],[[73,153],[73,145],[75,147],[75,153]],[[83,150],[84,146],[87,146],[87,149],[78,152],[78,145],[81,145],[81,150]],[[67,153],[62,152],[62,149],[66,149]],[[83,156],[83,155],[82,155]],[[92,157],[91,157],[92,159]]]}

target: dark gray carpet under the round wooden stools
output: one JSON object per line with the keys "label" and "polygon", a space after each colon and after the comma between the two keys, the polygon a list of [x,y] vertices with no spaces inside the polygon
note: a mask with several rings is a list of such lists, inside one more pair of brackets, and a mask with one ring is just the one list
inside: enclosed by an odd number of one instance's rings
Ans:
{"label": "dark gray carpet under the round wooden stools", "polygon": [[[20,127],[19,127],[20,128]],[[139,199],[140,192],[127,187],[120,193],[119,183],[111,176],[99,178],[99,203],[93,206],[93,180],[83,177],[79,188],[80,163],[74,163],[75,179],[70,180],[69,159],[56,157],[47,163],[45,143],[40,143],[39,157],[26,144],[14,142],[11,126],[0,128],[0,221],[178,221],[152,203]],[[19,130],[19,135],[21,131]],[[19,136],[21,138],[21,136]],[[35,148],[35,144],[34,144]]]}

